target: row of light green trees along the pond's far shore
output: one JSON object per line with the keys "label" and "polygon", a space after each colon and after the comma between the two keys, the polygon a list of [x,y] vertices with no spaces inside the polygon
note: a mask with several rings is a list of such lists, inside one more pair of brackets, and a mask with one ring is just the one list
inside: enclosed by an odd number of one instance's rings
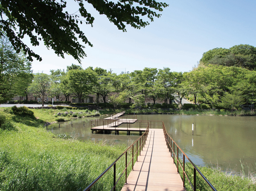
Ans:
{"label": "row of light green trees along the pond's far shore", "polygon": [[[169,104],[175,97],[193,97],[194,103],[204,103],[211,108],[238,109],[256,101],[256,71],[236,66],[198,67],[190,72],[173,72],[169,68],[144,68],[129,74],[112,74],[102,68],[72,65],[67,71],[51,70],[51,74],[34,74],[29,92],[41,100],[60,97],[68,101],[73,95],[79,99],[96,95],[96,102],[111,102],[116,107],[128,100],[151,98],[154,103],[163,100]],[[115,93],[111,95],[111,93]],[[107,99],[108,98],[108,99]],[[138,103],[138,101],[137,101]]]}

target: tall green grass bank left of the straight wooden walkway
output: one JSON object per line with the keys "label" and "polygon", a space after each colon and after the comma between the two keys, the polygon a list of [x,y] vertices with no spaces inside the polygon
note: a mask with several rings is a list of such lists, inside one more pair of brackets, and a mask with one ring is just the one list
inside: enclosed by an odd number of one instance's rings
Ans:
{"label": "tall green grass bank left of the straight wooden walkway", "polygon": [[[35,117],[12,116],[6,122],[9,128],[3,130],[6,124],[0,128],[1,191],[82,191],[126,149],[126,145],[58,138],[42,125],[44,120],[55,119],[51,118],[52,112],[38,112]],[[37,115],[40,119],[36,119]],[[123,171],[124,160],[117,163],[117,174]],[[122,177],[117,190],[124,181]],[[92,190],[110,190],[112,186],[110,170]]]}

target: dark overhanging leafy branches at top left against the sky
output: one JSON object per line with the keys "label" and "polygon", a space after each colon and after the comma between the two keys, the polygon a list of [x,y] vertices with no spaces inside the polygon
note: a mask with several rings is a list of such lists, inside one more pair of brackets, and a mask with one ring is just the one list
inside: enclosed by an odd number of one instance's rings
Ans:
{"label": "dark overhanging leafy branches at top left against the sky", "polygon": [[0,35],[5,32],[17,53],[23,49],[30,61],[32,57],[40,61],[42,58],[23,43],[25,35],[30,38],[32,46],[38,46],[43,40],[45,46],[52,48],[58,56],[64,58],[64,54],[70,54],[81,63],[81,58],[86,57],[84,45],[93,46],[79,28],[83,22],[93,26],[94,17],[87,12],[84,2],[92,4],[99,14],[105,14],[122,31],[126,31],[126,25],[135,29],[147,26],[148,21],[143,21],[140,16],[147,15],[153,21],[154,17],[160,17],[155,10],[163,11],[168,6],[155,0],[118,0],[116,3],[74,0],[73,3],[79,4],[79,10],[77,14],[70,14],[65,9],[66,0],[1,0]]}

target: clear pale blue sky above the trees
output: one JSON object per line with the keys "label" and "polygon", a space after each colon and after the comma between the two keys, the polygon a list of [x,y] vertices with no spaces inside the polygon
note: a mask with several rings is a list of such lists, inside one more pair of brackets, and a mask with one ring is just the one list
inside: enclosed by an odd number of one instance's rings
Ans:
{"label": "clear pale blue sky above the trees", "polygon": [[[69,13],[78,6],[68,0]],[[160,0],[158,0],[160,1]],[[92,6],[87,11],[95,18],[93,28],[83,24],[93,47],[87,46],[87,57],[82,67],[112,68],[114,72],[142,70],[145,67],[169,67],[172,71],[189,71],[212,48],[230,48],[234,45],[256,46],[256,1],[253,0],[165,0],[169,7],[149,26],[140,30],[127,26],[127,32],[117,29],[105,15],[99,15]],[[147,20],[147,17],[143,17]],[[29,44],[29,40],[25,41]],[[34,72],[49,73],[50,69],[66,69],[79,64],[73,57],[58,57],[47,50],[44,43],[30,46],[41,55],[41,62],[33,61]]]}

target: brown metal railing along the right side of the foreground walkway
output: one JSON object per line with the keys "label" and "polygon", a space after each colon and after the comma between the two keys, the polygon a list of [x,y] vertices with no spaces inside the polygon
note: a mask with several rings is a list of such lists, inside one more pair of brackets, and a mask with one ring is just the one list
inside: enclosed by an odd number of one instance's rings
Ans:
{"label": "brown metal railing along the right side of the foreground walkway", "polygon": [[[192,189],[194,191],[196,191],[196,171],[198,171],[199,175],[204,179],[204,181],[209,185],[209,187],[213,190],[216,191],[216,189],[213,187],[213,185],[209,182],[209,180],[207,180],[206,177],[204,177],[204,175],[201,173],[201,171],[199,171],[199,169],[195,166],[195,164],[189,159],[189,157],[181,150],[181,148],[175,143],[175,141],[169,136],[169,134],[166,132],[166,128],[165,125],[163,123],[163,133],[165,135],[165,139],[166,139],[166,145],[169,148],[169,151],[171,152],[171,156],[173,158],[173,163],[175,163],[175,158],[177,160],[177,173],[179,173],[179,165],[180,167],[183,169],[183,188],[185,188],[185,176],[187,178],[187,180],[189,181]],[[173,143],[173,145],[172,145]],[[175,146],[177,148],[177,155],[175,154]],[[183,154],[183,165],[181,165],[180,160],[179,160],[179,150],[182,152]],[[185,171],[185,157],[187,158],[187,160],[189,160],[189,162],[192,164],[193,168],[194,168],[194,182],[192,184],[191,180],[189,180],[189,177],[186,174]]]}

